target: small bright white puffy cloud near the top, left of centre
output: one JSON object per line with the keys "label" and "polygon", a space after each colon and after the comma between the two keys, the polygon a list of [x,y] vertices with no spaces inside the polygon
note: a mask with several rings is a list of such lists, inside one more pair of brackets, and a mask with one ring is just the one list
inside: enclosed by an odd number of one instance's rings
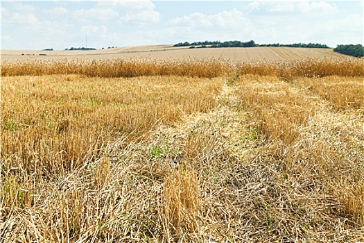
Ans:
{"label": "small bright white puffy cloud near the top, left of centre", "polygon": [[157,24],[159,19],[159,12],[157,11],[127,12],[119,19],[119,24]]}

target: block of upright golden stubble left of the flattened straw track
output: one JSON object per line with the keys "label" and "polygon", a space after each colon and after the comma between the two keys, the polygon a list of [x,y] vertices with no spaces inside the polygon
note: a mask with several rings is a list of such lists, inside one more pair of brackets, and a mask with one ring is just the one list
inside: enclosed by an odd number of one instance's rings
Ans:
{"label": "block of upright golden stubble left of the flattened straw track", "polygon": [[49,174],[96,159],[112,137],[139,136],[184,115],[207,112],[216,106],[223,82],[74,75],[2,81],[3,165],[31,171],[38,162]]}

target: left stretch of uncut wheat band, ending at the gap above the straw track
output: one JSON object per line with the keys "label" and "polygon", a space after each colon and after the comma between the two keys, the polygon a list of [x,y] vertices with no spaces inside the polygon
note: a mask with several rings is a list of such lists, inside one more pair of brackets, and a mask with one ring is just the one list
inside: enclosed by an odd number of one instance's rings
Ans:
{"label": "left stretch of uncut wheat band, ending at the gap above the straw track", "polygon": [[89,77],[193,76],[214,78],[231,72],[232,64],[222,59],[186,58],[150,60],[142,58],[103,60],[2,60],[1,76],[80,74]]}

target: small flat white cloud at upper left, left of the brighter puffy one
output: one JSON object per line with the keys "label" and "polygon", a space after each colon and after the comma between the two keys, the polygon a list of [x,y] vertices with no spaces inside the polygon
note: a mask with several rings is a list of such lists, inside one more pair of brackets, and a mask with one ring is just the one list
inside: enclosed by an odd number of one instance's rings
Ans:
{"label": "small flat white cloud at upper left, left of the brighter puffy one", "polygon": [[73,17],[83,22],[87,22],[89,19],[98,19],[101,21],[107,21],[118,16],[119,12],[107,8],[80,9],[76,10],[73,13]]}

